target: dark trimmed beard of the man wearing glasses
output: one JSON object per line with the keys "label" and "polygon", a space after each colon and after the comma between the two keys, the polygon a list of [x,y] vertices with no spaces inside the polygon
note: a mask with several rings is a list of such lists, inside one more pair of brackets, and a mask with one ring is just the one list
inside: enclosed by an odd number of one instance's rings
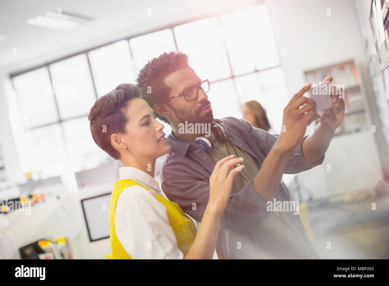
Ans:
{"label": "dark trimmed beard of the man wearing glasses", "polygon": [[179,109],[175,108],[172,105],[169,104],[170,108],[175,114],[175,117],[181,122],[184,123],[187,121],[188,123],[212,123],[214,121],[214,115],[212,112],[212,108],[210,111],[206,112],[203,115],[200,115],[200,111],[206,107],[207,105],[211,104],[209,100],[203,100],[202,105],[199,106],[196,109]]}

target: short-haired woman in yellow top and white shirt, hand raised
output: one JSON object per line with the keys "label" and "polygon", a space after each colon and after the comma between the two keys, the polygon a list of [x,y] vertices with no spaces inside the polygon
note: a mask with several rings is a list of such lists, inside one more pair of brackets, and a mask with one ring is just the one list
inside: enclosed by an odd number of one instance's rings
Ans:
{"label": "short-haired woman in yellow top and white shirt, hand raised", "polygon": [[179,205],[163,197],[154,179],[155,161],[170,146],[163,124],[139,96],[137,86],[120,84],[96,100],[88,115],[93,140],[123,166],[110,199],[112,257],[210,259],[239,171],[233,167],[243,159],[232,155],[216,163],[209,202],[196,230]]}

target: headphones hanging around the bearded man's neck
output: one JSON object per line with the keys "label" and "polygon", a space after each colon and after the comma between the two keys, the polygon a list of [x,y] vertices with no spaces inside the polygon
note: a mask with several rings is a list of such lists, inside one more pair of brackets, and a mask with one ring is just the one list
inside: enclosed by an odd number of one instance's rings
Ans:
{"label": "headphones hanging around the bearded man's neck", "polygon": [[[228,129],[226,125],[223,123],[223,121],[221,121],[220,119],[214,119],[214,121],[211,124],[211,131],[214,137],[216,138],[217,142],[224,142],[226,139],[228,139]],[[200,136],[197,137],[193,142],[185,142],[175,138],[174,133],[172,131],[172,139],[184,143],[198,144],[206,153],[209,153],[214,147],[214,143],[212,142],[212,139],[210,139],[209,137]]]}

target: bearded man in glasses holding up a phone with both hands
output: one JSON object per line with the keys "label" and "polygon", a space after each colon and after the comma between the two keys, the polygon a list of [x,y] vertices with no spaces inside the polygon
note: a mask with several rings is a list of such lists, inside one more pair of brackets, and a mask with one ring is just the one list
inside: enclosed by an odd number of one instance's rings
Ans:
{"label": "bearded man in glasses holding up a phone with both hands", "polygon": [[[213,123],[207,81],[189,67],[186,54],[171,52],[154,58],[142,68],[137,82],[144,99],[172,127],[171,152],[163,163],[161,184],[166,197],[189,216],[202,220],[215,162],[230,154],[244,158],[245,168],[235,177],[228,207],[220,218],[219,258],[319,258],[300,217],[291,211],[275,212],[268,205],[274,200],[291,202],[280,184],[283,173],[295,174],[322,163],[343,120],[342,98],[334,96],[333,107],[319,116],[315,102],[302,96],[310,87],[307,84],[285,107],[278,137],[244,119],[227,117],[222,121],[228,138],[217,136],[218,128],[212,128],[209,140],[214,147],[208,151],[207,146],[193,143],[206,134],[180,129],[185,121],[223,127]],[[221,98],[228,100],[228,95]],[[304,137],[306,127],[319,118],[314,133]]]}

